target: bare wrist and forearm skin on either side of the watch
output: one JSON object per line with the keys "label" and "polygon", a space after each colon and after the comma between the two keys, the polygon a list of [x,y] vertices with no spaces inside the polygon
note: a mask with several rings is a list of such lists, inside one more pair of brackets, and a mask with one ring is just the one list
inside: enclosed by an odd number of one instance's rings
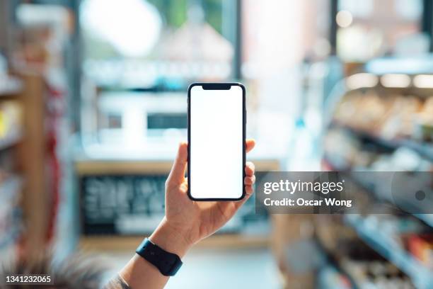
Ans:
{"label": "bare wrist and forearm skin on either side of the watch", "polygon": [[[177,254],[180,258],[183,258],[190,249],[190,244],[185,241],[185,237],[169,226],[165,218],[149,239],[162,249]],[[120,276],[132,289],[159,289],[163,288],[168,281],[168,276],[163,276],[158,268],[138,254],[135,254],[120,271]]]}

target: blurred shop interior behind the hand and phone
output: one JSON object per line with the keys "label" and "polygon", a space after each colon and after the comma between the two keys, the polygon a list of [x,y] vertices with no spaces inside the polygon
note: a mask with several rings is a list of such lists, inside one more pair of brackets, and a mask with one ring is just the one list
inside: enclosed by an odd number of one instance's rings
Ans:
{"label": "blurred shop interior behind the hand and phone", "polygon": [[[432,36],[429,0],[1,0],[1,261],[122,268],[163,216],[192,81],[246,85],[258,171],[432,171]],[[167,288],[433,288],[432,226],[251,198]]]}

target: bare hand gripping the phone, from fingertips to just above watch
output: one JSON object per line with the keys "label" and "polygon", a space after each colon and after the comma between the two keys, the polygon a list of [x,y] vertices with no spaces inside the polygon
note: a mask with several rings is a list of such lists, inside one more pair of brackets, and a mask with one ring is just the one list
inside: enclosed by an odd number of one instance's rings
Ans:
{"label": "bare hand gripping the phone, from fingertips to just above watch", "polygon": [[[255,146],[254,140],[246,140],[246,152]],[[185,178],[187,169],[187,143],[182,142],[178,154],[166,181],[166,216],[150,239],[155,244],[161,244],[163,239],[176,239],[177,253],[183,256],[187,249],[201,239],[208,237],[228,222],[241,205],[250,198],[255,183],[255,167],[246,162],[245,191],[246,196],[239,201],[192,201],[187,196],[188,183]],[[218,172],[212,171],[209,164],[209,186],[221,186],[224,190],[224,180],[218,181]],[[176,252],[175,252],[176,253]]]}

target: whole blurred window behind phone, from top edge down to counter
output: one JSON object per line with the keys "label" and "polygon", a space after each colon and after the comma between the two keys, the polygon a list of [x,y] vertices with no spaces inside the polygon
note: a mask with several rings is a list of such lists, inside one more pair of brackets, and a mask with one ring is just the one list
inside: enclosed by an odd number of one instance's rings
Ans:
{"label": "whole blurred window behind phone, from top edge down to counter", "polygon": [[176,98],[188,84],[232,76],[235,8],[232,0],[81,1],[81,131],[139,146],[185,130],[186,103]]}

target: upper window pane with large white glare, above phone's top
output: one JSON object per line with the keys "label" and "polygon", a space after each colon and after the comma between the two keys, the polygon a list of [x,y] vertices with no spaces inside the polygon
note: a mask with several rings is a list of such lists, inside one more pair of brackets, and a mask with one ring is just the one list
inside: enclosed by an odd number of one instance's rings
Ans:
{"label": "upper window pane with large white glare, above phone's top", "polygon": [[84,0],[83,72],[98,86],[122,88],[227,79],[234,50],[222,22],[235,21],[223,17],[228,2]]}

